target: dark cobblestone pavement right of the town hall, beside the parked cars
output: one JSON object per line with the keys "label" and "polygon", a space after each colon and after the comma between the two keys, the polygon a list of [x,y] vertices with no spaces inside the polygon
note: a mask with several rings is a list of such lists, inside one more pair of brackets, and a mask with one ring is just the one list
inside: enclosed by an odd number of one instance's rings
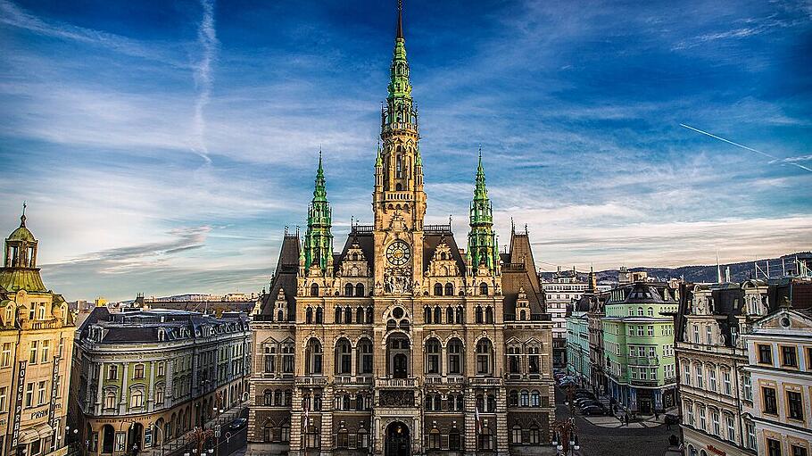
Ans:
{"label": "dark cobblestone pavement right of the town hall, beside the parked cars", "polygon": [[[572,415],[564,405],[564,394],[556,388],[556,419],[575,416],[582,456],[662,456],[668,448],[668,436],[680,436],[679,427],[605,427],[594,425],[576,411]],[[595,417],[591,417],[594,419]],[[619,424],[619,421],[618,421]]]}

